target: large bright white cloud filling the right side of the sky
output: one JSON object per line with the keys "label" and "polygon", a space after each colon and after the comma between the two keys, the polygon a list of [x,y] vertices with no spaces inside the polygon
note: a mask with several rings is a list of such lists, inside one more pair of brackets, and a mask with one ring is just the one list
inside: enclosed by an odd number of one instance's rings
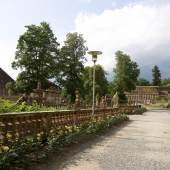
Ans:
{"label": "large bright white cloud filling the right side of the sky", "polygon": [[143,65],[169,59],[170,2],[150,4],[145,2],[105,10],[101,14],[79,13],[77,16],[76,31],[84,35],[89,49],[103,51],[99,63],[107,71],[114,67],[116,50],[125,51]]}

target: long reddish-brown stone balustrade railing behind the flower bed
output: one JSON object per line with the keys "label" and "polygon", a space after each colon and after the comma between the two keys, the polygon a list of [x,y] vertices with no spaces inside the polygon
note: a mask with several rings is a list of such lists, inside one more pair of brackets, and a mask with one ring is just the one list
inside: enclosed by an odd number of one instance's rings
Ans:
{"label": "long reddish-brown stone balustrade railing behind the flower bed", "polygon": [[[93,118],[134,112],[139,106],[97,109]],[[92,118],[91,109],[0,114],[0,145],[12,145],[25,137],[53,132],[57,127],[79,125]]]}

